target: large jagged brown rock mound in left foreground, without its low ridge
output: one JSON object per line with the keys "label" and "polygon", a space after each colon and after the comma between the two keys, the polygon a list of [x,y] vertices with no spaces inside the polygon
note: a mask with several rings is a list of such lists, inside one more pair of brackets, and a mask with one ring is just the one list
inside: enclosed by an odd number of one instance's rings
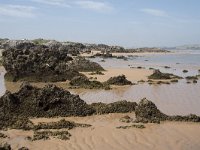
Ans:
{"label": "large jagged brown rock mound in left foreground, without its low ridge", "polygon": [[0,117],[5,119],[6,116],[86,116],[94,112],[78,95],[70,94],[54,85],[40,89],[25,84],[17,93],[6,92],[0,98]]}

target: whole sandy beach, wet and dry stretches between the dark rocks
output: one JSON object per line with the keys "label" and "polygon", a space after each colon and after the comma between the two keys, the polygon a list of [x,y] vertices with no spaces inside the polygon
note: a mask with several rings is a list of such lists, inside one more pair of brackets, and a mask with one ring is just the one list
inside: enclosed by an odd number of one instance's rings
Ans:
{"label": "whole sandy beach, wet and dry stretches between the dark rocks", "polygon": [[[128,66],[128,63],[127,63]],[[137,68],[105,68],[104,75],[90,75],[91,72],[82,72],[87,77],[97,78],[96,80],[104,82],[110,77],[124,74],[128,80],[137,82],[139,80],[148,80],[152,74],[149,69]],[[5,70],[0,68],[2,82]],[[47,83],[33,83],[38,87],[43,87]],[[67,82],[57,82],[55,85],[68,89]],[[16,92],[21,82],[5,82],[6,89]],[[187,86],[187,87],[186,87]],[[5,90],[4,86],[2,91]],[[137,101],[147,97],[154,101],[159,109],[167,114],[184,114],[194,110],[199,114],[198,101],[195,99],[198,95],[197,85],[187,85],[183,81],[172,85],[150,86],[148,84],[139,84],[133,86],[124,86],[114,88],[110,91],[105,90],[86,90],[75,89],[72,93],[79,94],[87,103],[92,102],[114,102],[116,100],[127,99]],[[190,90],[189,90],[190,89]],[[190,93],[190,94],[189,94]],[[183,96],[185,94],[185,96]],[[182,96],[183,97],[182,97]],[[190,102],[188,101],[190,99]],[[181,104],[181,105],[180,105]],[[191,107],[190,107],[191,106]],[[129,128],[117,129],[119,126],[131,125],[132,123],[122,123],[119,119],[125,115],[135,118],[134,113],[126,114],[107,114],[94,115],[88,117],[65,117],[66,120],[76,123],[91,124],[89,128],[75,128],[69,130],[70,140],[63,141],[59,139],[28,141],[27,136],[32,136],[33,131],[8,130],[2,131],[9,138],[1,139],[1,142],[9,143],[14,150],[20,147],[29,149],[49,149],[49,150],[199,150],[200,147],[200,125],[198,123],[186,122],[161,122],[161,124],[145,124],[144,129]],[[59,121],[62,118],[37,118],[31,119],[35,124],[39,122]]]}

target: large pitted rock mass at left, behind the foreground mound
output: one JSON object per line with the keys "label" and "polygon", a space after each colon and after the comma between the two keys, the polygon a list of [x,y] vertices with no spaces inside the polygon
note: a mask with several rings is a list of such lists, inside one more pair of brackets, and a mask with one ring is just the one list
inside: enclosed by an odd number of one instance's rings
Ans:
{"label": "large pitted rock mass at left, behind the foreground mound", "polygon": [[4,44],[2,64],[8,81],[65,81],[81,76],[79,71],[96,71],[103,68],[84,58],[72,58],[72,46],[59,42],[36,45],[30,41],[9,41]]}

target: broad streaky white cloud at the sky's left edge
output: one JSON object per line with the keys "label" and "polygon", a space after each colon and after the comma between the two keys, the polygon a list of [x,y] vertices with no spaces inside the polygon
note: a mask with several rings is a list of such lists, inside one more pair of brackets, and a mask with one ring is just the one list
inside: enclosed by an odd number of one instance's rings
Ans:
{"label": "broad streaky white cloud at the sky's left edge", "polygon": [[24,5],[1,5],[0,15],[31,18],[35,16],[35,9],[35,7]]}

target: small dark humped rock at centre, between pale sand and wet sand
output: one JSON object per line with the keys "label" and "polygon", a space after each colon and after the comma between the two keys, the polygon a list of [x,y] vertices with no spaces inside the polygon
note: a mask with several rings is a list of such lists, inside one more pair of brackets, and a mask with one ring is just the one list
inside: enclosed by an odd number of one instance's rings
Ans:
{"label": "small dark humped rock at centre, between pale sand and wet sand", "polygon": [[106,83],[111,85],[132,85],[132,82],[128,81],[125,75],[111,77]]}

